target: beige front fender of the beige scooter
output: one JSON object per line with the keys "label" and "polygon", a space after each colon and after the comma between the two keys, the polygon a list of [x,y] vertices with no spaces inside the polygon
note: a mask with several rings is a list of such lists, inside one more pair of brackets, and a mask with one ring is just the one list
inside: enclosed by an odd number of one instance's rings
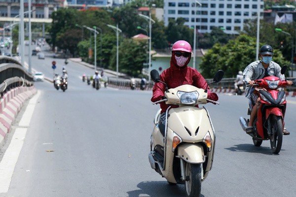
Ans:
{"label": "beige front fender of the beige scooter", "polygon": [[203,147],[196,143],[186,143],[178,146],[178,157],[190,164],[201,164],[206,160]]}

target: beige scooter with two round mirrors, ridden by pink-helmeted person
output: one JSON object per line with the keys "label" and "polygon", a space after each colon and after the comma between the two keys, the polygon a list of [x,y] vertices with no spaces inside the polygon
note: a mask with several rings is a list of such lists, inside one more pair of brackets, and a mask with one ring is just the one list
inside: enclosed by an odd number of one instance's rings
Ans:
{"label": "beige scooter with two round mirrors, ridden by pink-helmeted person", "polygon": [[[150,75],[155,83],[164,83],[159,80],[157,70],[151,70]],[[223,75],[219,70],[211,83],[221,81]],[[164,96],[166,99],[153,104],[165,101],[179,107],[167,109],[164,135],[158,127],[160,110],[156,113],[149,163],[170,185],[185,184],[186,197],[199,197],[201,182],[213,164],[215,130],[208,110],[195,105],[219,102],[207,99],[206,90],[191,85],[166,90]]]}

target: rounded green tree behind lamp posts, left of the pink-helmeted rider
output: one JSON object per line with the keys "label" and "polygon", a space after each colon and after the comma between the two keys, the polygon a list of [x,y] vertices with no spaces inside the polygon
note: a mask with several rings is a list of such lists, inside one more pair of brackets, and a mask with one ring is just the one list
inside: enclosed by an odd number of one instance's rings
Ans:
{"label": "rounded green tree behind lamp posts, left of the pink-helmeted rider", "polygon": [[[147,43],[134,41],[133,39],[124,39],[119,46],[119,72],[130,76],[139,76],[143,64],[146,62]],[[116,70],[116,46],[111,52],[110,66]]]}

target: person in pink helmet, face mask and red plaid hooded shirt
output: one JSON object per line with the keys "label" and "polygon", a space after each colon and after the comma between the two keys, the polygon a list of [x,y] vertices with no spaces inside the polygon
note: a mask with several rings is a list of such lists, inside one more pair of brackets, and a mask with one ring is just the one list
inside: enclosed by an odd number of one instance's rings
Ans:
{"label": "person in pink helmet, face mask and red plaid hooded shirt", "polygon": [[[187,66],[191,58],[191,46],[185,40],[179,40],[172,47],[172,56],[170,67],[160,74],[160,80],[165,82],[168,88],[176,88],[181,85],[192,85],[197,88],[206,89],[208,84],[204,77],[195,68]],[[165,85],[163,83],[155,83],[153,86],[152,102],[161,100],[164,97]],[[217,101],[218,96],[212,93],[208,87],[208,99]],[[159,129],[164,133],[165,128],[165,112],[169,105],[165,102],[160,103],[161,115],[159,121]],[[178,107],[173,105],[172,107]]]}

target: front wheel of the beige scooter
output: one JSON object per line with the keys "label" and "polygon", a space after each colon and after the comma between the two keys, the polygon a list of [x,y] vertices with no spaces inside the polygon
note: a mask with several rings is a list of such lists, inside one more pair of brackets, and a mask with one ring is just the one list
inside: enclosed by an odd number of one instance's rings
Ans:
{"label": "front wheel of the beige scooter", "polygon": [[186,197],[199,197],[201,192],[201,165],[186,163],[185,190]]}

